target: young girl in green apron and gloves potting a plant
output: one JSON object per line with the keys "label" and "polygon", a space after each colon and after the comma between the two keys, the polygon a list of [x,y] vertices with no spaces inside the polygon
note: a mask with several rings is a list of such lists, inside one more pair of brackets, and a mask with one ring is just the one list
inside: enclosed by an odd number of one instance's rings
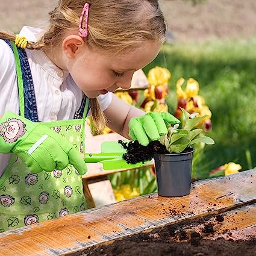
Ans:
{"label": "young girl in green apron and gloves potting a plant", "polygon": [[88,112],[142,145],[179,122],[112,93],[160,51],[157,0],[60,0],[49,15],[46,31],[0,32],[0,232],[86,209]]}

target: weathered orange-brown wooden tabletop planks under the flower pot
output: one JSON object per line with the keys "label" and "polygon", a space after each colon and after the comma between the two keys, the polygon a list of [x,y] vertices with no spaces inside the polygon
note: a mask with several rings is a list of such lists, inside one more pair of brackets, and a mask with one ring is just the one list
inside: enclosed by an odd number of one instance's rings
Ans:
{"label": "weathered orange-brown wooden tabletop planks under the flower pot", "polygon": [[[2,233],[1,255],[68,255],[167,224],[219,213],[230,215],[233,210],[237,211],[233,217],[244,219],[237,221],[237,231],[255,232],[255,192],[256,169],[196,181],[190,195],[182,198],[154,193]],[[232,219],[225,225],[234,228]]]}

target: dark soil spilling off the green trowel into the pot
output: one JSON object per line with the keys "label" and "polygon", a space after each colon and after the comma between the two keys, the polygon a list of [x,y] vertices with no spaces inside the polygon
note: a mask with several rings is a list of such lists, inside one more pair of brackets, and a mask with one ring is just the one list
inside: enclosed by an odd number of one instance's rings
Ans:
{"label": "dark soil spilling off the green trowel into the pot", "polygon": [[[154,154],[170,154],[166,147],[158,140],[149,142],[148,146],[140,145],[137,140],[134,142],[118,140],[118,143],[127,151],[123,154],[123,159],[128,164],[145,163],[146,161],[150,161],[154,157]],[[187,148],[183,152],[187,151],[191,151],[191,148]]]}

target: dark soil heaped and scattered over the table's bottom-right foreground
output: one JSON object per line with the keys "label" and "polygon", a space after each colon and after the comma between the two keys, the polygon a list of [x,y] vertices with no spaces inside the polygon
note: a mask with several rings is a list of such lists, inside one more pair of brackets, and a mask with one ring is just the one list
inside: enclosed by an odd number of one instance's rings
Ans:
{"label": "dark soil heaped and scattered over the table's bottom-right foreground", "polygon": [[[223,216],[216,216],[216,223],[223,222]],[[193,231],[191,226],[204,224],[199,232]],[[216,224],[215,223],[215,224]],[[167,225],[157,228],[150,233],[140,233],[121,240],[116,240],[110,245],[101,245],[74,255],[105,255],[105,256],[255,256],[256,239],[233,240],[232,234],[228,233],[229,239],[210,240],[214,234],[214,223],[208,223],[201,219],[195,223],[189,223],[189,229],[183,229],[183,224]],[[203,239],[208,238],[208,239]]]}

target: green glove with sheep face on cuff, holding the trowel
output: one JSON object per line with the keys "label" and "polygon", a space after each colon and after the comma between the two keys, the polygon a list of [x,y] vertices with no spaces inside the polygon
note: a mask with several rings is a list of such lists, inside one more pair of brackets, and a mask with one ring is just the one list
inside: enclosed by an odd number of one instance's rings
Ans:
{"label": "green glove with sheep face on cuff, holding the trowel", "polygon": [[83,175],[86,163],[58,133],[8,111],[0,119],[0,153],[15,153],[31,172],[63,170],[68,164]]}

